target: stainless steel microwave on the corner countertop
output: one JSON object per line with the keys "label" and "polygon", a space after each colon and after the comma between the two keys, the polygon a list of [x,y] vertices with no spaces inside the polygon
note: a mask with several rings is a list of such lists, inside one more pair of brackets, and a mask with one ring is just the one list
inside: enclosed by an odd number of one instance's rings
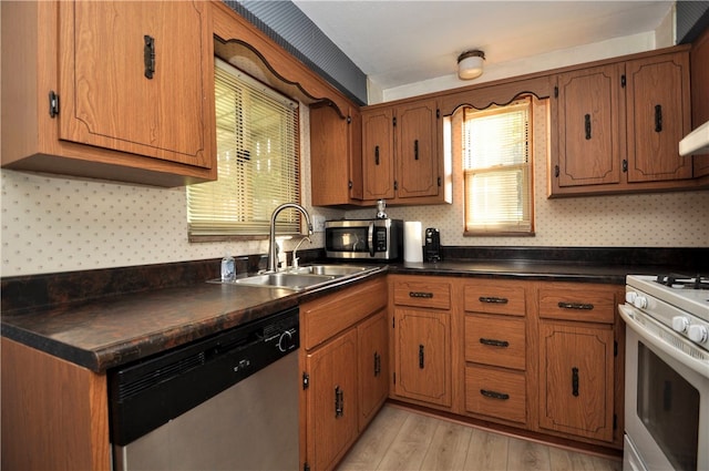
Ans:
{"label": "stainless steel microwave on the corner countertop", "polygon": [[403,256],[403,221],[326,221],[328,258],[395,260]]}

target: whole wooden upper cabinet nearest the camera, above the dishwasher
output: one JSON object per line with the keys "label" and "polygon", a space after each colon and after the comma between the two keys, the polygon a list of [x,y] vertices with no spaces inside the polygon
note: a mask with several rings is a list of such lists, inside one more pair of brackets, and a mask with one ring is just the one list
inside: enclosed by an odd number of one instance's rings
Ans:
{"label": "whole wooden upper cabinet nearest the camera, above the dishwasher", "polygon": [[3,166],[158,186],[216,180],[210,18],[196,0],[3,4]]}

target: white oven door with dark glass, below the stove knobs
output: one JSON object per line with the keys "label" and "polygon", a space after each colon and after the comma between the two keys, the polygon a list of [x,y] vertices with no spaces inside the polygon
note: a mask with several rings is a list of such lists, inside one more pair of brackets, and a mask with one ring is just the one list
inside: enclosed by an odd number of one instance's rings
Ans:
{"label": "white oven door with dark glass, below the stove knobs", "polygon": [[706,354],[633,306],[618,309],[627,326],[624,469],[709,469]]}

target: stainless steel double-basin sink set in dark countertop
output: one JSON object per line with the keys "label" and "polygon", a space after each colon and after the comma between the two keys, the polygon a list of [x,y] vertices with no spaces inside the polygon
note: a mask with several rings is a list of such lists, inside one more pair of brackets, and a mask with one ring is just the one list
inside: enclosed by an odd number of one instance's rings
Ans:
{"label": "stainless steel double-basin sink set in dark countertop", "polygon": [[372,272],[377,267],[352,265],[310,265],[298,268],[289,268],[285,272],[264,273],[236,278],[232,281],[210,279],[208,283],[223,283],[228,285],[257,286],[261,288],[282,288],[301,291],[330,281],[342,280],[348,277]]}

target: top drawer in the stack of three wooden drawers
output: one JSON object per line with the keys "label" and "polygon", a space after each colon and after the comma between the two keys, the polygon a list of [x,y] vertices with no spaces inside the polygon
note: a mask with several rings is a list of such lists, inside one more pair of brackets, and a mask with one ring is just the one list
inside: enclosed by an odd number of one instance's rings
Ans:
{"label": "top drawer in the stack of three wooden drawers", "polygon": [[467,285],[464,308],[473,313],[524,316],[524,288],[505,284]]}

